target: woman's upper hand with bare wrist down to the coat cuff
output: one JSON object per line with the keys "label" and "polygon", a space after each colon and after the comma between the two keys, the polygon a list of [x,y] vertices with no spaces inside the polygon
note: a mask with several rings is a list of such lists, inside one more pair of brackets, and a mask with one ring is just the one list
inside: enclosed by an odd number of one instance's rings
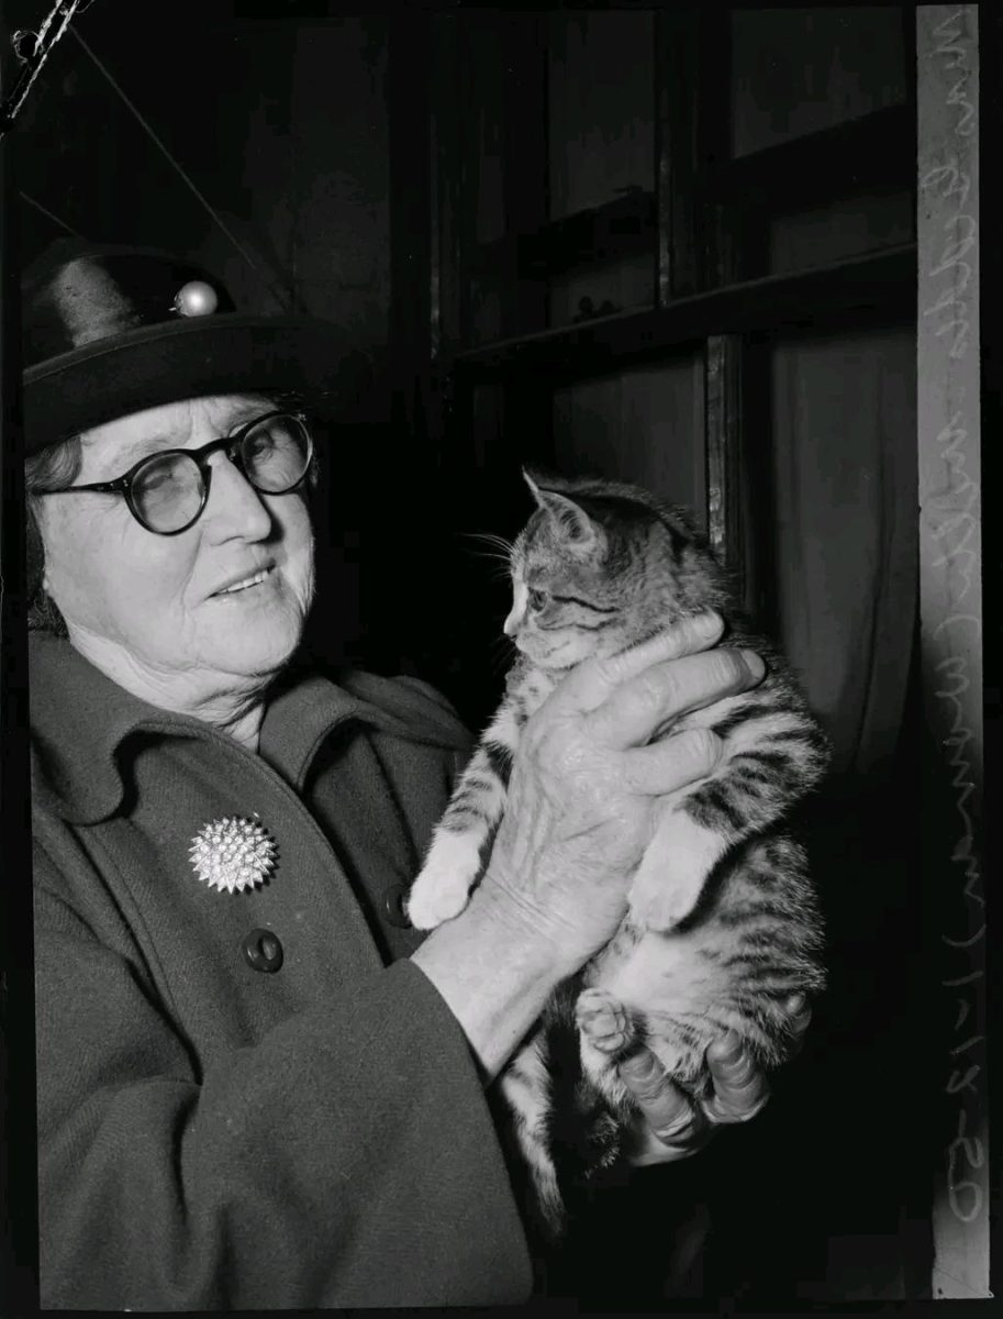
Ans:
{"label": "woman's upper hand with bare wrist down to the coat cuff", "polygon": [[763,677],[751,652],[709,649],[722,630],[717,615],[685,619],[587,661],[527,720],[485,874],[467,907],[411,954],[485,1082],[554,988],[616,933],[664,797],[714,769],[718,739],[673,735],[672,723]]}

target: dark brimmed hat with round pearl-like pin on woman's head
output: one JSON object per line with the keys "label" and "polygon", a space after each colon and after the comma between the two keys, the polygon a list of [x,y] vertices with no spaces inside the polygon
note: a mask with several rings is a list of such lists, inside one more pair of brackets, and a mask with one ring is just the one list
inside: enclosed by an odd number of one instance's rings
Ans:
{"label": "dark brimmed hat with round pearl-like pin on woman's head", "polygon": [[223,284],[149,248],[54,243],[25,272],[25,452],[145,408],[289,390],[349,419],[369,360],[326,321],[245,315]]}

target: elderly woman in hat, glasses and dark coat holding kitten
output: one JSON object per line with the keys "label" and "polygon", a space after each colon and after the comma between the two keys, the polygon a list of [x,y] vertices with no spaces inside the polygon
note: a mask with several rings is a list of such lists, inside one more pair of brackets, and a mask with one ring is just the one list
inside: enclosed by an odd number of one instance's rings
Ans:
{"label": "elderly woman in hat, glasses and dark coat holding kitten", "polygon": [[[285,392],[337,398],[345,346],[84,244],[30,272],[24,319],[43,1307],[527,1297],[485,1089],[616,929],[659,794],[714,764],[647,737],[760,661],[710,619],[584,666],[422,940],[402,898],[468,736],[420,682],[290,663],[315,452]],[[638,1162],[760,1105],[733,1041],[710,1060],[700,1112],[623,1066]]]}

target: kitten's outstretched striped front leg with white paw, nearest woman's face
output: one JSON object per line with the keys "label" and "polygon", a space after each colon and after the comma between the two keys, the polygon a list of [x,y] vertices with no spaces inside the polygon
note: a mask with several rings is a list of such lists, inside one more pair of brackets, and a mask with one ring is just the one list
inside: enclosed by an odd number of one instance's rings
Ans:
{"label": "kitten's outstretched striped front leg with white paw, nearest woman's face", "polygon": [[460,776],[411,885],[407,915],[416,930],[432,930],[467,906],[486,845],[505,811],[518,736],[515,714],[503,706]]}

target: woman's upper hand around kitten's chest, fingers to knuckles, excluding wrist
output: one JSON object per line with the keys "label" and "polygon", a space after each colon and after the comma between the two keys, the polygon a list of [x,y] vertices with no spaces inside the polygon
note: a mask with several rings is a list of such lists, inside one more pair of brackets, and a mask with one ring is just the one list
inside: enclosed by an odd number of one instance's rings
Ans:
{"label": "woman's upper hand around kitten's chest, fingers to knuckles, excluding wrist", "polygon": [[619,925],[663,798],[705,778],[720,758],[709,729],[672,735],[672,723],[763,675],[751,652],[708,650],[722,627],[717,615],[685,619],[583,663],[522,731],[474,901],[492,901],[525,934],[548,938],[567,973]]}

